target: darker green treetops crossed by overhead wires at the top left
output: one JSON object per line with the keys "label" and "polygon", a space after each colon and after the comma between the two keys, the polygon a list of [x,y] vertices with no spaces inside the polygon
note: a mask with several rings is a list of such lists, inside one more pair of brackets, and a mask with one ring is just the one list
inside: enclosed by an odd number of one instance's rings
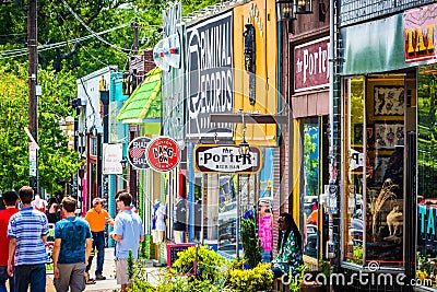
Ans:
{"label": "darker green treetops crossed by overhead wires at the top left", "polygon": [[[182,1],[184,14],[217,0]],[[153,48],[161,39],[163,0],[38,0],[38,61],[43,69],[71,70],[76,78],[106,66],[128,69],[132,56],[133,28],[140,25],[140,49]],[[104,34],[99,34],[106,32]],[[99,35],[96,35],[99,34]],[[0,65],[11,58],[25,61],[27,8],[23,1],[0,5]]]}

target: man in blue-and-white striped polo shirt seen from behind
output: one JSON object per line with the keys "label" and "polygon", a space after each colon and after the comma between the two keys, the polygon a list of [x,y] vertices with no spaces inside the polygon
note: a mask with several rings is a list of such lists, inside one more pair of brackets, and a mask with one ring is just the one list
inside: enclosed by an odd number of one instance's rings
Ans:
{"label": "man in blue-and-white striped polo shirt seen from behind", "polygon": [[19,198],[22,208],[11,217],[8,225],[8,273],[14,276],[16,292],[27,292],[29,285],[32,292],[45,292],[47,218],[32,207],[34,190],[31,187],[22,187]]}

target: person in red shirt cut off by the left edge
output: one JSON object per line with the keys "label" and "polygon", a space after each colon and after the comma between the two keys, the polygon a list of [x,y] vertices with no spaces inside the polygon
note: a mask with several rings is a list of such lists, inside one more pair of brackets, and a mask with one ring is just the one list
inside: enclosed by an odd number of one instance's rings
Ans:
{"label": "person in red shirt cut off by the left edge", "polygon": [[3,194],[3,203],[7,207],[5,210],[0,211],[0,292],[7,292],[7,280],[9,279],[9,291],[14,292],[15,285],[13,277],[8,275],[8,253],[9,238],[8,238],[8,224],[9,219],[20,210],[16,208],[16,201],[19,195],[15,191],[10,190]]}

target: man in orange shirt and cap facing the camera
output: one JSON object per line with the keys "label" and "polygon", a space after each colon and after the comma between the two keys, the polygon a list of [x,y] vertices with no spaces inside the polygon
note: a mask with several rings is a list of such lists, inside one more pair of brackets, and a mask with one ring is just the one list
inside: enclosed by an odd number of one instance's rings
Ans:
{"label": "man in orange shirt and cap facing the camera", "polygon": [[[106,277],[102,275],[103,262],[105,261],[105,223],[113,222],[109,213],[103,209],[105,199],[94,198],[93,208],[86,212],[85,220],[90,224],[91,233],[93,234],[93,252],[97,252],[97,267],[95,271],[96,280],[106,280]],[[93,262],[94,253],[88,258],[88,265],[85,269],[86,283],[93,283],[93,279],[90,279],[90,268]]]}

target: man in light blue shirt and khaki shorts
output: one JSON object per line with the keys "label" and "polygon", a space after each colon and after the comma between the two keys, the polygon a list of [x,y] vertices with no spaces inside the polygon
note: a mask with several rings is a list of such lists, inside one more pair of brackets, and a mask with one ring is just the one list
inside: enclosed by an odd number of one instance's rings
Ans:
{"label": "man in light blue shirt and khaki shorts", "polygon": [[132,211],[130,205],[132,196],[122,192],[118,196],[117,207],[120,212],[117,214],[114,231],[110,236],[117,242],[116,248],[116,278],[121,285],[121,292],[126,292],[131,287],[131,279],[128,276],[128,256],[132,252],[134,260],[138,259],[140,242],[144,241],[144,229],[141,218]]}

